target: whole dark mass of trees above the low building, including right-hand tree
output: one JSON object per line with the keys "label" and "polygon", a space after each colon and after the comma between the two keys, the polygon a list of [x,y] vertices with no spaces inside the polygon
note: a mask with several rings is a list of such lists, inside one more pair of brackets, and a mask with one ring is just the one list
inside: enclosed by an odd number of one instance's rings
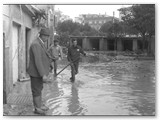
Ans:
{"label": "whole dark mass of trees above the low building, including right-hand tree", "polygon": [[155,35],[155,5],[140,4],[119,9],[122,21],[109,21],[104,23],[99,31],[91,28],[88,24],[79,24],[72,20],[58,23],[56,31],[61,41],[65,44],[69,35],[73,36],[111,36],[120,37],[126,35],[141,35],[143,38],[143,50],[145,49],[146,37],[149,37],[148,52],[150,52],[151,37]]}

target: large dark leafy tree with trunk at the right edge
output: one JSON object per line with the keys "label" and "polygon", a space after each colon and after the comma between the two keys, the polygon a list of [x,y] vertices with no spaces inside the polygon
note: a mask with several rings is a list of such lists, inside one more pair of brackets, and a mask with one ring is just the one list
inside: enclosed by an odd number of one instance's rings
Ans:
{"label": "large dark leafy tree with trunk at the right edge", "polygon": [[141,34],[144,50],[146,35],[151,38],[155,34],[155,5],[133,5],[132,7],[121,8],[119,11],[123,15],[122,20]]}

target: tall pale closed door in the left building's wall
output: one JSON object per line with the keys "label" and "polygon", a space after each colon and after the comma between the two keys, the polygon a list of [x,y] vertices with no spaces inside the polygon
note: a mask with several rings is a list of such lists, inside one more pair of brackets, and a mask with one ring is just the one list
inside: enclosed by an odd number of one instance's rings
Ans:
{"label": "tall pale closed door in the left building's wall", "polygon": [[12,31],[12,75],[13,84],[18,80],[18,26],[13,25]]}

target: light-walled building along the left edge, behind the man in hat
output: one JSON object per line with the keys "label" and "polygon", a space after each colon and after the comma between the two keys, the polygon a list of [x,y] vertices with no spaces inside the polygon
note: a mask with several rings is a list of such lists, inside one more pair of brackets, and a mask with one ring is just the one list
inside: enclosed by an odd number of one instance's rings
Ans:
{"label": "light-walled building along the left edge, behind the man in hat", "polygon": [[31,5],[3,5],[3,94],[5,98],[19,80],[28,79],[29,47],[40,27],[33,26]]}

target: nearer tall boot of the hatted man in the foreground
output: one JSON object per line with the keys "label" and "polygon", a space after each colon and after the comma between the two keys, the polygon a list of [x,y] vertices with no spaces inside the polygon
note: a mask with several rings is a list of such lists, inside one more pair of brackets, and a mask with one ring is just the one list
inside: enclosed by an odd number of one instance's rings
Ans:
{"label": "nearer tall boot of the hatted man in the foreground", "polygon": [[41,96],[33,97],[33,103],[35,107],[35,114],[45,115],[45,111],[41,109]]}

